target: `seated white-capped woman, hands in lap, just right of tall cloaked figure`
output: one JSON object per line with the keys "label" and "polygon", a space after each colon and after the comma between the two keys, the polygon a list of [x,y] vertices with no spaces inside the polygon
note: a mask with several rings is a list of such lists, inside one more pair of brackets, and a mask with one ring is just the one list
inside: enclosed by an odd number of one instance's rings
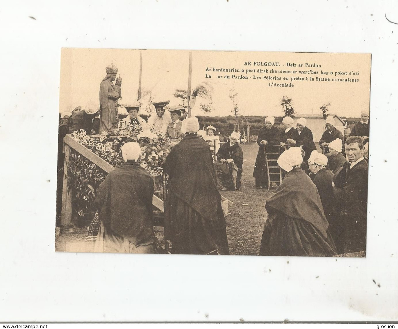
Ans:
{"label": "seated white-capped woman, hands in lap, just right of tall cloaked figure", "polygon": [[[240,179],[242,178],[243,172],[243,151],[238,144],[239,137],[240,134],[238,132],[231,133],[229,141],[221,145],[217,152],[217,160],[221,163],[220,169],[224,172],[224,175],[221,175],[220,180],[228,190],[239,190],[241,185]],[[228,182],[231,182],[232,177],[234,176],[234,166],[236,166],[235,170],[237,170],[236,179],[235,182],[229,184]]]}

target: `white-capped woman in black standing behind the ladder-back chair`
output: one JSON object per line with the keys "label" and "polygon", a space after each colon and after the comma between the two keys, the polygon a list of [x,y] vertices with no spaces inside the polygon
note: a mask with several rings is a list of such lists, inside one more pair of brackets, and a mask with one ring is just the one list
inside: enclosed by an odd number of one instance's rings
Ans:
{"label": "white-capped woman in black standing behind the ladder-back chair", "polygon": [[[277,127],[274,127],[275,118],[265,118],[265,126],[258,132],[257,144],[259,145],[256,164],[254,165],[253,177],[256,178],[256,187],[262,186],[263,188],[269,187],[268,174],[267,174],[267,159],[272,162],[272,166],[276,166],[276,160],[279,154],[280,136]],[[278,145],[278,146],[275,146]],[[278,168],[268,168],[269,173],[279,173]]]}

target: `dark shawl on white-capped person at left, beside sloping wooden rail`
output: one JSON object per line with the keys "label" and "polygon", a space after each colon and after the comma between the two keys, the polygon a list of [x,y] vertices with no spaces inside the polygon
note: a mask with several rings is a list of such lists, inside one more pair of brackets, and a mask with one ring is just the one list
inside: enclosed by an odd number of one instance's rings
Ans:
{"label": "dark shawl on white-capped person at left, beside sloping wooden rail", "polygon": [[135,245],[154,241],[153,179],[135,161],[109,172],[97,190],[96,204],[105,227]]}

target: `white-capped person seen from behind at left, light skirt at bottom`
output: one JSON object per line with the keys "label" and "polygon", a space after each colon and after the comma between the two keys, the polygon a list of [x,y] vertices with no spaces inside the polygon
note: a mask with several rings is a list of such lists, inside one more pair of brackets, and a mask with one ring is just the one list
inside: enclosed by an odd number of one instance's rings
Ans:
{"label": "white-capped person seen from behind at left, light skirt at bottom", "polygon": [[158,253],[152,227],[153,179],[137,160],[140,146],[121,148],[122,166],[109,172],[95,200],[101,220],[95,249],[105,253]]}

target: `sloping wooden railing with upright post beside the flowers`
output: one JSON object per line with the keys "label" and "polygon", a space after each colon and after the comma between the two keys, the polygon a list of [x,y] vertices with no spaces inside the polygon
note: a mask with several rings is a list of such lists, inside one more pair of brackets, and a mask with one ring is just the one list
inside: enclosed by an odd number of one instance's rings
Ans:
{"label": "sloping wooden railing with upright post beside the flowers", "polygon": [[[70,149],[74,149],[80,153],[83,157],[90,160],[92,163],[100,167],[105,172],[109,173],[115,169],[114,166],[107,163],[104,159],[101,159],[98,155],[84,147],[78,141],[75,141],[70,135],[66,135],[64,138],[63,152],[65,153],[64,161],[64,181],[62,186],[62,211],[61,211],[61,226],[69,225],[72,222],[72,192],[68,192],[68,166]],[[164,211],[163,201],[157,196],[152,197],[152,205],[156,208]]]}

